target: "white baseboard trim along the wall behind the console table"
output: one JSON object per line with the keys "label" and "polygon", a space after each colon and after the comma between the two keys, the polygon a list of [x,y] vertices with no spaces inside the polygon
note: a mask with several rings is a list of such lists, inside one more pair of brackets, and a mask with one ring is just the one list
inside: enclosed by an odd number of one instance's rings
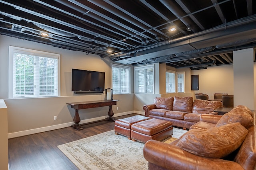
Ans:
{"label": "white baseboard trim along the wall behind the console table", "polygon": [[[144,115],[143,111],[127,111],[127,112],[123,112],[123,113],[116,113],[116,114],[114,114],[113,117],[129,115],[129,114],[132,114],[132,113]],[[93,121],[100,121],[100,120],[104,120],[106,118],[108,118],[108,115],[101,116],[101,117],[95,117],[95,118],[91,118],[91,119],[84,119],[84,120],[80,121],[80,124],[90,123],[90,122],[93,122]],[[35,133],[52,131],[52,130],[61,129],[61,128],[65,128],[65,127],[70,127],[73,124],[74,124],[74,122],[68,122],[68,123],[62,123],[62,124],[58,124],[58,125],[47,126],[47,127],[40,127],[40,128],[36,128],[36,129],[29,129],[29,130],[26,130],[26,131],[8,133],[8,139],[15,138],[15,137],[21,137],[21,136],[26,136],[26,135],[32,135],[32,134],[35,134]]]}

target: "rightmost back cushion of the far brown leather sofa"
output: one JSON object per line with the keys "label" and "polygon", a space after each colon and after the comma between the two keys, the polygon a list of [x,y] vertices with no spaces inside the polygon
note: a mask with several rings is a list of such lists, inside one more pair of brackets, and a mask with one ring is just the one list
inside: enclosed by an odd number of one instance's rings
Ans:
{"label": "rightmost back cushion of the far brown leather sofa", "polygon": [[219,107],[222,107],[222,102],[220,101],[196,99],[192,107],[192,113],[208,114]]}

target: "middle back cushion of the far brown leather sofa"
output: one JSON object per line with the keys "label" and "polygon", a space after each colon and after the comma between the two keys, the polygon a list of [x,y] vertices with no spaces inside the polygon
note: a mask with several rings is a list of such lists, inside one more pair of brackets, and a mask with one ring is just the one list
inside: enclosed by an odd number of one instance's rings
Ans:
{"label": "middle back cushion of the far brown leather sofa", "polygon": [[174,97],[173,111],[185,111],[191,113],[193,106],[193,97]]}

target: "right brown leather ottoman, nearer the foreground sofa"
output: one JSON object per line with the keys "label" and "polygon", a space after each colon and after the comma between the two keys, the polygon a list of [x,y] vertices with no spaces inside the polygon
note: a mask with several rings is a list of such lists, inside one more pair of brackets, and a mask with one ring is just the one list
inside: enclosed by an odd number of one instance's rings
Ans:
{"label": "right brown leather ottoman, nearer the foreground sofa", "polygon": [[150,139],[162,141],[172,136],[172,122],[161,119],[148,119],[131,126],[132,141],[146,143]]}

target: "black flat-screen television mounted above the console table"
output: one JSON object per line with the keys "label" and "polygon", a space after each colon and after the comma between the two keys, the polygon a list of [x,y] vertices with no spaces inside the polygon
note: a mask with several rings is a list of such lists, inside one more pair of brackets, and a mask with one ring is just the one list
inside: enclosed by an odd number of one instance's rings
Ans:
{"label": "black flat-screen television mounted above the console table", "polygon": [[105,72],[78,70],[72,68],[72,92],[103,93]]}

